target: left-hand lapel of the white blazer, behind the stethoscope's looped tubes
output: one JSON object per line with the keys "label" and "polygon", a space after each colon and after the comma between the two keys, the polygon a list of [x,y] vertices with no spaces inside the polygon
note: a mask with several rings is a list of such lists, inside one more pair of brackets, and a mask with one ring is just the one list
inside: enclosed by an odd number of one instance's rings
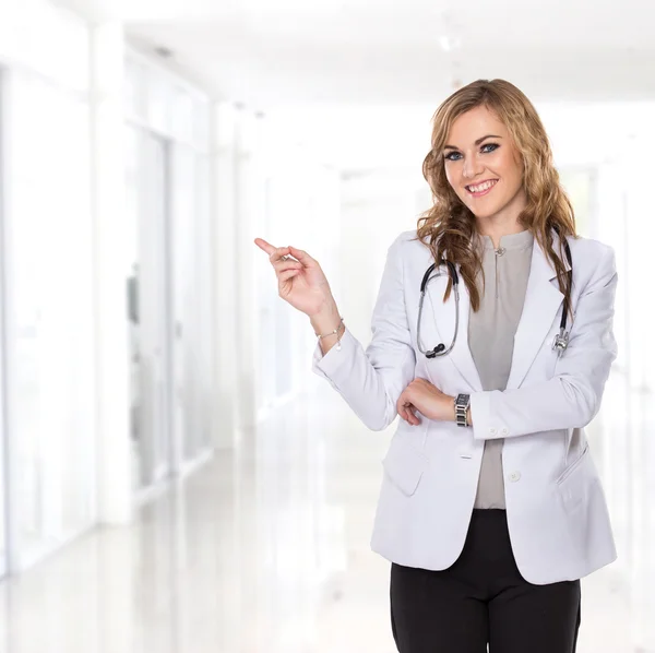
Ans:
{"label": "left-hand lapel of the white blazer, behind the stethoscope's looped tubes", "polygon": [[[443,302],[443,293],[448,284],[448,272],[444,266],[440,269],[441,275],[432,280],[426,288],[426,322],[432,320],[434,324],[436,335],[438,341],[432,343],[428,341],[429,333],[432,330],[427,330],[426,335],[421,334],[421,342],[425,347],[432,348],[439,343],[443,343],[446,347],[453,341],[455,332],[456,311],[455,311],[455,294],[451,292],[449,300]],[[460,276],[460,280],[462,277]],[[468,312],[471,310],[471,297],[466,284],[460,281],[460,324],[455,346],[445,358],[450,358],[453,365],[457,368],[464,380],[475,392],[481,392],[483,383],[478,375],[475,361],[468,348]],[[426,342],[427,341],[427,342]]]}

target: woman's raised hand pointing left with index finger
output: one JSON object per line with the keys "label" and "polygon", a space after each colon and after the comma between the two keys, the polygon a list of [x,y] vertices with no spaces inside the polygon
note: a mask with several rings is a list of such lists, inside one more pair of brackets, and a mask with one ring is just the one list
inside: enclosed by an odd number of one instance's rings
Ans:
{"label": "woman's raised hand pointing left with index finger", "polygon": [[310,318],[335,311],[330,284],[318,261],[295,247],[276,248],[262,238],[255,238],[254,244],[269,254],[277,275],[278,295],[285,301]]}

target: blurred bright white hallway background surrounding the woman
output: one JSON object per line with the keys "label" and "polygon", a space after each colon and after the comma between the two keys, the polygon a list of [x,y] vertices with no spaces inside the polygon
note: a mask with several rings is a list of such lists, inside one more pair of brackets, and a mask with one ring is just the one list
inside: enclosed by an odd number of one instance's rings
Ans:
{"label": "blurred bright white hallway background surrounding the woman", "polygon": [[430,203],[430,119],[533,99],[617,252],[590,427],[619,560],[580,653],[655,653],[655,8],[647,0],[0,3],[0,651],[392,653],[380,461],[252,244],[306,249],[364,343]]}

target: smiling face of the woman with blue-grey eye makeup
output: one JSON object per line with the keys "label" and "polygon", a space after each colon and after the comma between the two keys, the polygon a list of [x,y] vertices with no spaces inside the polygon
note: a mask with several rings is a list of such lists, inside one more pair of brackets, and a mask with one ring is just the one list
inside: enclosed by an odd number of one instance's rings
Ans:
{"label": "smiling face of the woman with blue-grey eye makeup", "polygon": [[523,163],[508,129],[487,107],[455,119],[443,157],[449,183],[478,222],[516,221],[526,205]]}

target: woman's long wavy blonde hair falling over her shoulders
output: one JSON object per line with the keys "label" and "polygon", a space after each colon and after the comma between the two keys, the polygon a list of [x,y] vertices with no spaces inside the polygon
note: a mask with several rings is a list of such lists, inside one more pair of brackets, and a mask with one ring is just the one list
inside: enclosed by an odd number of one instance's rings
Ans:
{"label": "woman's long wavy blonde hair falling over her shoulders", "polygon": [[[432,191],[432,207],[418,218],[417,237],[428,244],[436,261],[451,261],[460,266],[471,295],[471,306],[478,310],[480,294],[475,283],[481,259],[472,237],[475,216],[460,200],[445,177],[443,146],[456,118],[473,108],[485,106],[507,127],[523,161],[523,187],[527,205],[519,222],[529,229],[551,261],[561,293],[571,306],[570,278],[564,266],[563,241],[575,234],[573,207],[561,187],[552,163],[552,152],[544,124],[527,97],[504,80],[478,80],[453,93],[432,117],[431,150],[422,174]],[[555,251],[553,233],[559,235]],[[452,289],[449,282],[443,300]]]}

